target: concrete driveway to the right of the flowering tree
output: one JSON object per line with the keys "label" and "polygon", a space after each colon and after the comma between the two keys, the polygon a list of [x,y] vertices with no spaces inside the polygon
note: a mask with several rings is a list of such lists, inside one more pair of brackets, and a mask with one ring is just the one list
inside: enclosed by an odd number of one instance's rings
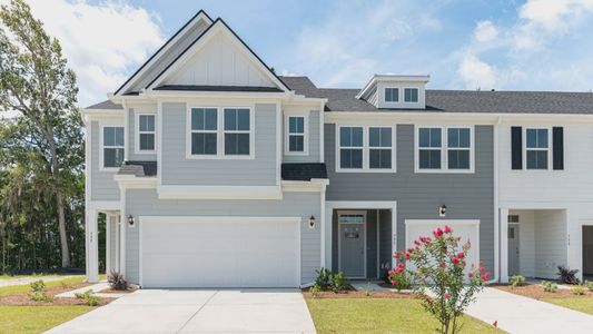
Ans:
{"label": "concrete driveway to the right of the flowering tree", "polygon": [[508,333],[593,333],[593,315],[486,287],[466,312]]}

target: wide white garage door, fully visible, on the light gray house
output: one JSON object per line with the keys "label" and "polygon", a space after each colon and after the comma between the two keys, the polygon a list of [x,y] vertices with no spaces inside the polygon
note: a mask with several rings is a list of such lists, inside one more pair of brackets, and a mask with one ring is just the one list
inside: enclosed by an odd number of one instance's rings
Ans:
{"label": "wide white garage door, fully visible, on the light gray house", "polygon": [[300,218],[140,217],[144,287],[298,287]]}

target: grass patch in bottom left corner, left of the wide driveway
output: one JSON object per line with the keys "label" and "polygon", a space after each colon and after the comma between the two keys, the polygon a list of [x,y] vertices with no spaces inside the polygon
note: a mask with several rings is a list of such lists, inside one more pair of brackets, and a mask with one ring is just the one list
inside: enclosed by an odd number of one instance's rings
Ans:
{"label": "grass patch in bottom left corner, left of the wide driveway", "polygon": [[0,333],[42,333],[91,306],[0,306]]}

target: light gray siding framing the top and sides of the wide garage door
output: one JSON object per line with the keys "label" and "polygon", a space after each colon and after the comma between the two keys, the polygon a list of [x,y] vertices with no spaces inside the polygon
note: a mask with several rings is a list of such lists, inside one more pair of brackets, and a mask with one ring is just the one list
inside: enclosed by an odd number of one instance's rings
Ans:
{"label": "light gray siding framing the top and sides of the wide garage door", "polygon": [[[315,279],[320,266],[320,228],[308,227],[308,218],[320,217],[319,193],[285,193],[283,200],[192,200],[158,199],[155,189],[128,189],[126,215],[139,216],[247,216],[303,218],[300,228],[302,283]],[[138,223],[137,220],[137,224]],[[127,227],[126,275],[139,279],[139,226]]]}

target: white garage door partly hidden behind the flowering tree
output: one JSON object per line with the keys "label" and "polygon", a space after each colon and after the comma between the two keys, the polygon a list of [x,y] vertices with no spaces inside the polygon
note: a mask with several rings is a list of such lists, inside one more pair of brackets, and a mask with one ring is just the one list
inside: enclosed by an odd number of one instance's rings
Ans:
{"label": "white garage door partly hidden behind the flowering tree", "polygon": [[415,220],[406,219],[406,249],[414,247],[414,240],[418,239],[421,236],[431,237],[433,236],[433,230],[437,227],[445,227],[445,225],[453,228],[453,235],[461,237],[461,246],[467,240],[472,244],[472,248],[467,254],[467,268],[474,265],[480,264],[480,220]]}

